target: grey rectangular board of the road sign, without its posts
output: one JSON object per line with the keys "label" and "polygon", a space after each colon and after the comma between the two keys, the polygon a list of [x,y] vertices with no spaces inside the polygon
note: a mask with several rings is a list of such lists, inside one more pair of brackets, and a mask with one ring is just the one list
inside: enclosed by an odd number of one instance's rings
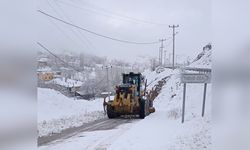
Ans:
{"label": "grey rectangular board of the road sign, without its posts", "polygon": [[198,74],[198,73],[183,73],[181,74],[182,83],[210,83],[211,74]]}

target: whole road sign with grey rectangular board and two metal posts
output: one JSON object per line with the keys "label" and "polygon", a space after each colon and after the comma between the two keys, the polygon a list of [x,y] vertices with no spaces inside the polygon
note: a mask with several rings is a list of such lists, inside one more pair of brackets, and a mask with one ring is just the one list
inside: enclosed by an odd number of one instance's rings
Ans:
{"label": "whole road sign with grey rectangular board and two metal posts", "polygon": [[183,85],[183,102],[182,102],[182,120],[181,122],[184,123],[185,117],[185,101],[186,101],[186,84],[187,83],[204,83],[204,91],[203,91],[203,103],[202,103],[202,113],[201,116],[203,117],[205,114],[205,102],[206,102],[206,93],[207,93],[207,83],[211,82],[211,74],[188,74],[183,73],[181,74],[181,82],[184,83]]}

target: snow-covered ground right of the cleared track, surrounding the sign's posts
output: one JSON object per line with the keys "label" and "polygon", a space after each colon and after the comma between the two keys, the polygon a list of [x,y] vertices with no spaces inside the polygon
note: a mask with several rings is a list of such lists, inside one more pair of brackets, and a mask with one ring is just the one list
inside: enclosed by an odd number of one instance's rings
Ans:
{"label": "snow-covered ground right of the cleared track, surrounding the sign's posts", "polygon": [[[188,84],[185,122],[181,123],[183,85],[179,71],[147,72],[150,82],[170,76],[154,101],[156,112],[145,119],[112,130],[83,132],[63,142],[41,146],[41,150],[202,150],[211,149],[211,85],[208,85],[206,111],[201,117],[202,84]],[[155,83],[152,83],[154,85]]]}

